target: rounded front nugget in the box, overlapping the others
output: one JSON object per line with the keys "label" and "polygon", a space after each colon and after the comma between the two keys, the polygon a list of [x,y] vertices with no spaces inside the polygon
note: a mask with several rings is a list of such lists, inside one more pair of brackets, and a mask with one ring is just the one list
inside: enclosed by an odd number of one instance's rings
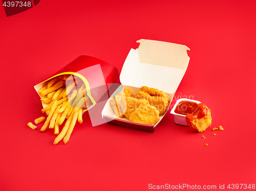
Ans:
{"label": "rounded front nugget in the box, overlapping the others", "polygon": [[159,111],[151,105],[140,105],[132,112],[130,116],[131,122],[137,122],[141,124],[156,125],[159,120]]}

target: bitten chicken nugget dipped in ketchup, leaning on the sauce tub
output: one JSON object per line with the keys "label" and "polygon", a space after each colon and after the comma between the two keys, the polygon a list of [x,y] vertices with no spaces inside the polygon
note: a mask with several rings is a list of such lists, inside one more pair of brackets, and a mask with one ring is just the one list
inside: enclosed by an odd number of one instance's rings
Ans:
{"label": "bitten chicken nugget dipped in ketchup, leaning on the sauce tub", "polygon": [[[198,104],[198,106],[201,107],[201,111],[199,108],[191,114],[186,114],[186,122],[189,127],[192,127],[202,133],[211,125],[211,113],[210,109],[208,109],[205,104]],[[203,113],[206,113],[204,117],[198,117],[199,115],[202,116]],[[195,115],[197,115],[197,117],[195,117]]]}

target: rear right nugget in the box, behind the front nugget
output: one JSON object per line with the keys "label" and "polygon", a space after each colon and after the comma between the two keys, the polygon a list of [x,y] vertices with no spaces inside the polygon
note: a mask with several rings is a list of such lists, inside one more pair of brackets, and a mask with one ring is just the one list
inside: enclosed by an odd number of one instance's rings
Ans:
{"label": "rear right nugget in the box, behind the front nugget", "polygon": [[157,108],[157,110],[160,112],[160,115],[163,114],[168,109],[168,101],[164,97],[150,96],[150,94],[144,91],[138,91],[136,93],[135,98],[137,99],[144,98],[145,100],[147,100],[150,103],[150,105]]}

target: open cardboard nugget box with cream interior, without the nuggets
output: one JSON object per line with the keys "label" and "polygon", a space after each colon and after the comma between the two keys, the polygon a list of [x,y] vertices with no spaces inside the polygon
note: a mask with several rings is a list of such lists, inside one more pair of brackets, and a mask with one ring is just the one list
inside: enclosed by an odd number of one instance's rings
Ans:
{"label": "open cardboard nugget box with cream interior, without the nuggets", "polygon": [[[126,57],[120,82],[123,88],[130,89],[136,94],[140,87],[148,86],[157,88],[168,94],[170,100],[174,96],[188,66],[189,57],[187,46],[170,42],[140,39],[138,49],[131,49]],[[115,96],[122,88],[117,89],[111,96]],[[140,124],[129,121],[128,118],[119,118],[110,105],[106,102],[101,115],[110,125],[121,126],[147,132],[154,132],[165,113],[160,115],[156,124]]]}

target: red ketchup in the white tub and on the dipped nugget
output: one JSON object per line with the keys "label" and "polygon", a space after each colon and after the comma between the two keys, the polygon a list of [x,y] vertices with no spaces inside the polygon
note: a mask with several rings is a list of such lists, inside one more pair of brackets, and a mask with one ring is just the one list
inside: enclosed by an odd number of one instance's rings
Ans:
{"label": "red ketchup in the white tub and on the dipped nugget", "polygon": [[189,101],[181,101],[174,110],[175,113],[186,115],[186,119],[189,121],[205,117],[207,111],[208,108],[205,104]]}

